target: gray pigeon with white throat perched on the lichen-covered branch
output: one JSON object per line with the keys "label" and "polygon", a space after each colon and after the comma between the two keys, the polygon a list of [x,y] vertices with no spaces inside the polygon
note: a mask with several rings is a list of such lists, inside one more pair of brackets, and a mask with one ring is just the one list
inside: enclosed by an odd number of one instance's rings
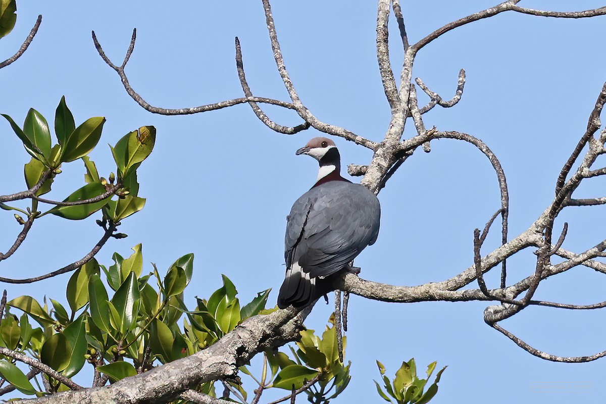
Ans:
{"label": "gray pigeon with white throat perched on the lichen-covered branch", "polygon": [[348,270],[348,263],[376,241],[381,219],[375,194],[341,177],[335,142],[315,137],[296,154],[314,157],[320,168],[316,184],[287,217],[279,308],[301,308],[334,290],[331,275]]}

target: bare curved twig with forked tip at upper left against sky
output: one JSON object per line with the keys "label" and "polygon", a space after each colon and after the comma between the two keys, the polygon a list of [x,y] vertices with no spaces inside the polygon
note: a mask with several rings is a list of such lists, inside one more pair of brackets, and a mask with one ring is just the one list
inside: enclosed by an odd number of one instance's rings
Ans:
{"label": "bare curved twig with forked tip at upper left against sky", "polygon": [[122,85],[124,86],[124,89],[126,90],[128,95],[130,95],[130,97],[132,99],[134,99],[137,102],[137,104],[141,105],[141,107],[145,108],[145,110],[150,111],[151,113],[161,114],[161,115],[196,114],[199,112],[220,110],[221,108],[231,107],[232,105],[244,104],[245,102],[265,102],[267,104],[273,104],[273,105],[278,105],[279,107],[293,109],[293,105],[288,102],[278,101],[278,100],[271,99],[271,98],[262,98],[262,97],[235,98],[235,99],[230,99],[227,101],[215,102],[215,104],[206,104],[206,105],[201,105],[199,107],[193,107],[193,108],[169,109],[169,108],[154,107],[153,105],[148,104],[147,101],[145,101],[138,93],[136,93],[135,90],[133,90],[130,83],[128,82],[128,78],[127,78],[126,74],[124,73],[124,67],[126,66],[128,59],[130,58],[130,55],[132,54],[132,52],[135,48],[136,28],[133,30],[133,36],[132,36],[132,39],[130,40],[130,45],[128,46],[128,51],[126,53],[126,56],[124,57],[124,62],[122,62],[122,65],[120,65],[120,66],[116,66],[115,64],[113,64],[112,61],[110,61],[110,59],[105,55],[105,52],[103,51],[103,48],[101,47],[101,44],[99,44],[99,41],[97,40],[95,31],[92,31],[92,36],[93,36],[93,42],[95,42],[95,47],[96,47],[97,51],[99,52],[99,56],[101,56],[103,61],[109,67],[113,68],[113,70],[115,70],[116,73],[118,73],[118,76],[120,76],[120,79],[122,80]]}

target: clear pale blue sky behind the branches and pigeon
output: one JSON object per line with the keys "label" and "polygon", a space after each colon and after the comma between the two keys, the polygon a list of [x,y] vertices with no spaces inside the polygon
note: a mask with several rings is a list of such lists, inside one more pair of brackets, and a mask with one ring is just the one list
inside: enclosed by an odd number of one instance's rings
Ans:
{"label": "clear pale blue sky behind the branches and pigeon", "polygon": [[[494,4],[436,0],[402,2],[402,7],[415,42],[447,22]],[[581,10],[604,4],[523,0],[520,5]],[[273,1],[272,6],[285,64],[304,104],[322,121],[381,141],[389,107],[375,57],[375,2]],[[108,242],[98,254],[99,262],[110,263],[114,251],[127,256],[131,247],[143,243],[145,262],[165,270],[192,252],[196,258],[190,304],[193,296],[207,297],[218,288],[222,273],[238,286],[242,299],[271,287],[274,303],[284,274],[285,216],[316,178],[316,162],[294,153],[318,133],[274,133],[247,105],[193,116],[148,113],[125,93],[90,38],[95,30],[107,55],[119,64],[136,27],[138,41],[127,66],[131,84],[152,105],[181,108],[241,96],[233,44],[238,36],[253,93],[287,101],[261,2],[21,0],[15,30],[0,42],[0,59],[13,55],[38,14],[44,19],[32,45],[0,71],[0,112],[22,122],[33,107],[51,121],[65,95],[76,122],[105,116],[100,147],[91,154],[105,176],[115,168],[104,144],[115,144],[142,125],[158,130],[156,148],[139,170],[139,194],[147,197],[147,205],[124,220],[121,231],[128,238]],[[454,93],[459,69],[467,71],[462,101],[447,110],[436,107],[425,115],[425,126],[473,134],[501,159],[510,190],[510,237],[528,228],[550,203],[559,170],[585,131],[606,81],[605,21],[504,13],[451,31],[418,55],[414,76],[444,98]],[[391,58],[399,76],[402,52],[393,20],[390,33]],[[420,98],[427,101],[424,94]],[[301,123],[290,111],[266,111],[280,124]],[[7,123],[0,122],[0,136],[0,192],[24,190],[22,165],[29,156]],[[344,167],[370,161],[368,150],[335,141]],[[499,208],[496,176],[482,154],[454,141],[431,145],[431,153],[418,151],[408,159],[379,195],[378,242],[356,261],[365,279],[417,285],[460,273],[473,259],[473,229],[483,227]],[[67,164],[63,171],[50,194],[55,199],[83,184],[81,163]],[[604,196],[603,185],[602,179],[591,179],[576,196]],[[83,256],[101,237],[97,218],[39,220],[27,243],[2,263],[2,276],[35,276]],[[564,220],[569,223],[564,243],[568,250],[584,251],[606,238],[604,207],[568,208],[556,228]],[[0,246],[10,245],[19,231],[12,214],[0,215],[0,228]],[[482,251],[497,247],[499,239],[499,231],[491,233]],[[510,279],[531,274],[533,259],[528,250],[508,260]],[[489,286],[498,285],[498,274],[486,278]],[[64,300],[67,280],[65,275],[6,288],[9,297],[30,294],[41,299],[46,294]],[[604,276],[575,268],[541,283],[536,298],[595,303],[604,300],[605,286]],[[393,374],[410,357],[419,368],[433,360],[448,365],[436,404],[564,403],[577,397],[598,402],[604,396],[604,360],[562,364],[533,357],[485,325],[486,305],[402,305],[352,297],[347,359],[353,362],[354,379],[341,401],[380,402],[372,382],[379,376],[375,360]],[[308,328],[324,328],[330,310],[318,304],[306,322]],[[502,325],[538,349],[579,356],[606,349],[604,319],[603,311],[530,307]],[[568,388],[582,383],[587,392],[537,392],[536,383],[541,382],[562,382],[550,386]]]}

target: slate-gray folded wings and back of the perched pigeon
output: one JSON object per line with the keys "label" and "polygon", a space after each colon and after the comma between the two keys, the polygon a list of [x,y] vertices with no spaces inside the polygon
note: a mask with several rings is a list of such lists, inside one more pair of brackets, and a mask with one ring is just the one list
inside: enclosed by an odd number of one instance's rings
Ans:
{"label": "slate-gray folded wings and back of the perched pigeon", "polygon": [[327,182],[293,205],[285,237],[287,268],[298,262],[311,278],[341,270],[379,234],[381,208],[359,184]]}

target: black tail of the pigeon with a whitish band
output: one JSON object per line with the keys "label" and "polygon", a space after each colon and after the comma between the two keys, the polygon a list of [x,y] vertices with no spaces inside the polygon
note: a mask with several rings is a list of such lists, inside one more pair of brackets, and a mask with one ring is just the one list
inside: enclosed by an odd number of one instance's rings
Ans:
{"label": "black tail of the pigeon with a whitish band", "polygon": [[[290,305],[296,308],[305,307],[324,293],[319,293],[316,287],[316,282],[323,279],[311,278],[308,272],[299,267],[298,263],[293,265],[286,271],[284,283],[278,294],[278,307],[283,309]],[[320,288],[323,289],[323,288]]]}

